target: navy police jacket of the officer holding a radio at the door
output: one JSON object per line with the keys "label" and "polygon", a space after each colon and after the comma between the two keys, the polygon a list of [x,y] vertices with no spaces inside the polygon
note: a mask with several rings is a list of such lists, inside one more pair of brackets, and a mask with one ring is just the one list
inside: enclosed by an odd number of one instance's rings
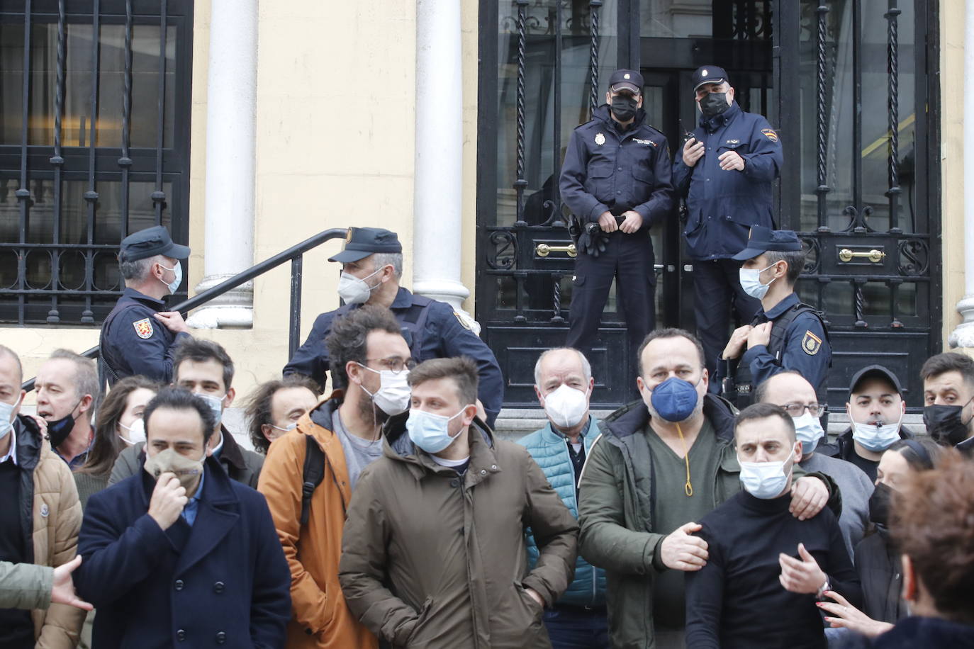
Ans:
{"label": "navy police jacket of the officer holding a radio at the door", "polygon": [[[693,137],[705,151],[692,167],[683,162],[683,148],[673,162],[673,186],[687,198],[684,237],[697,260],[726,259],[747,247],[751,226],[773,228],[771,183],[781,170],[781,143],[768,120],[745,113],[736,102],[707,119]],[[744,170],[725,171],[718,158],[736,151]]]}

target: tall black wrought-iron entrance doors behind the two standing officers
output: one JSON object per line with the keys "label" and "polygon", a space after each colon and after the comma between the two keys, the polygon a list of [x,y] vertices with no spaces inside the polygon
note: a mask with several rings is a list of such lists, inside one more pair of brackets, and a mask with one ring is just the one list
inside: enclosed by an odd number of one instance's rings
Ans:
{"label": "tall black wrought-iron entrance doors behind the two standing officers", "polygon": [[[608,73],[640,67],[648,121],[682,143],[690,75],[728,69],[745,110],[780,131],[775,211],[809,249],[799,291],[829,318],[830,403],[881,361],[919,406],[918,368],[940,345],[937,3],[481,0],[476,317],[507,379],[535,404],[538,354],[564,343],[573,261],[557,174]],[[694,21],[695,20],[695,21]],[[703,34],[703,35],[701,35]],[[693,329],[693,265],[674,215],[653,233],[659,325]],[[546,247],[544,247],[546,246]],[[625,330],[610,296],[593,345],[594,401],[627,398]]]}

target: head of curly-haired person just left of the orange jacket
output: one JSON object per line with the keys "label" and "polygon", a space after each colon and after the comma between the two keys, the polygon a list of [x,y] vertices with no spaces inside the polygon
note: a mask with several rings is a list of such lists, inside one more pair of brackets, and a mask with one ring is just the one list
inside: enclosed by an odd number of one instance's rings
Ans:
{"label": "head of curly-haired person just left of the orange jacket", "polygon": [[267,380],[253,389],[244,415],[253,450],[267,454],[271,442],[297,428],[318,404],[318,383],[299,374]]}

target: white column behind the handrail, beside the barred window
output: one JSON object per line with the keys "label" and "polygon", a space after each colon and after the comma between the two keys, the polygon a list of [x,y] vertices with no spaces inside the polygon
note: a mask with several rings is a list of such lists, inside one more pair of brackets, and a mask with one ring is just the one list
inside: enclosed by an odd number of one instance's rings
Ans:
{"label": "white column behind the handrail, beside the barred window", "polygon": [[[196,292],[253,266],[257,2],[212,0],[206,88],[205,277]],[[193,327],[253,325],[253,283],[193,312]]]}

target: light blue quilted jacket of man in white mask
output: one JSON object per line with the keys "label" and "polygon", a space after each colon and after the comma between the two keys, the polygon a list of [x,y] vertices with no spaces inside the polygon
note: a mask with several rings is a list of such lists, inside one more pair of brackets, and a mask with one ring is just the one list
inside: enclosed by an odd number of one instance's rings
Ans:
{"label": "light blue quilted jacket of man in white mask", "polygon": [[[598,437],[599,427],[595,417],[589,417],[588,428],[582,431],[582,441],[585,445],[585,456],[592,448],[592,442]],[[575,488],[575,471],[572,468],[572,458],[568,452],[565,438],[551,429],[548,423],[541,430],[536,430],[517,441],[525,447],[542,468],[544,476],[551,487],[561,496],[562,502],[572,512],[572,516],[579,518],[579,503]],[[528,531],[528,561],[534,567],[538,560],[538,546],[535,537]],[[606,574],[602,568],[596,568],[581,555],[575,564],[575,581],[561,596],[558,603],[573,606],[604,606],[606,602]]]}

